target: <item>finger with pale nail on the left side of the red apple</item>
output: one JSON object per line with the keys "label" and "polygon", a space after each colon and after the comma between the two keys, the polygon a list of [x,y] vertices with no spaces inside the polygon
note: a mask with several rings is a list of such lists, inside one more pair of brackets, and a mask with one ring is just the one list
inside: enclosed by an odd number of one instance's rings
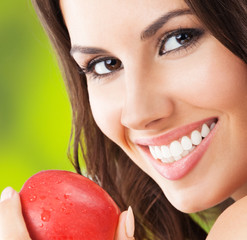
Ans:
{"label": "finger with pale nail on the left side of the red apple", "polygon": [[1,195],[0,239],[31,240],[22,216],[19,194],[11,187],[5,188]]}

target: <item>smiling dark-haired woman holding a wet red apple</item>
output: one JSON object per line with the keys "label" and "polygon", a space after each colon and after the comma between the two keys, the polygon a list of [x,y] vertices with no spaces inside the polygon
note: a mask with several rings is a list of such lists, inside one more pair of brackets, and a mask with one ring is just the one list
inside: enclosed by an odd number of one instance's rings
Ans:
{"label": "smiling dark-haired woman holding a wet red apple", "polygon": [[[129,210],[116,239],[205,239],[188,213],[229,198],[208,239],[246,239],[246,0],[34,3],[66,76],[74,166],[82,148],[88,175],[134,210],[135,233]],[[0,218],[2,236],[28,238],[12,189]]]}

